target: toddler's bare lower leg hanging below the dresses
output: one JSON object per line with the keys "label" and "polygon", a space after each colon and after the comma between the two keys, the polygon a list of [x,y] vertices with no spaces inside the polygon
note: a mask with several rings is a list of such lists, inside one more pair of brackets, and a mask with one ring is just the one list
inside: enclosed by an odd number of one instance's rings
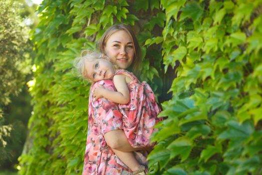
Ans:
{"label": "toddler's bare lower leg hanging below the dresses", "polygon": [[140,168],[134,152],[124,152],[116,149],[112,149],[120,160],[123,161],[132,171]]}

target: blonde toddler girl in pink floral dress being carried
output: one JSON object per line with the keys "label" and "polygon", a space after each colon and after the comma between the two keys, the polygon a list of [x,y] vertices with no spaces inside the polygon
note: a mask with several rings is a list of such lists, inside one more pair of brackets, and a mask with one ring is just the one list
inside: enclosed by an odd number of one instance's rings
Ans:
{"label": "blonde toddler girl in pink floral dress being carried", "polygon": [[[118,69],[108,57],[101,57],[100,53],[84,50],[77,58],[78,70],[82,76],[92,82],[111,79],[117,91],[105,89],[102,85],[94,89],[95,99],[105,97],[119,103],[119,110],[123,114],[123,130],[133,147],[152,146],[150,135],[156,131],[153,126],[160,120],[160,112],[151,87],[145,81],[140,82],[133,73]],[[144,174],[133,152],[123,152],[112,149],[115,154],[129,167],[134,174]],[[140,168],[137,168],[140,167]],[[137,173],[138,172],[138,173]]]}

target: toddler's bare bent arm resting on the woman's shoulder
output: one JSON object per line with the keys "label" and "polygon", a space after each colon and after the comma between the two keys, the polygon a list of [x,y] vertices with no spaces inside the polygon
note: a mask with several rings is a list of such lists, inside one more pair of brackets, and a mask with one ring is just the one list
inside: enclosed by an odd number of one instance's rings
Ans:
{"label": "toddler's bare bent arm resting on the woman's shoulder", "polygon": [[103,86],[99,86],[95,88],[93,92],[95,100],[101,97],[105,97],[119,104],[127,104],[130,100],[130,94],[127,87],[125,75],[114,75],[113,82],[117,91],[108,90],[105,89]]}

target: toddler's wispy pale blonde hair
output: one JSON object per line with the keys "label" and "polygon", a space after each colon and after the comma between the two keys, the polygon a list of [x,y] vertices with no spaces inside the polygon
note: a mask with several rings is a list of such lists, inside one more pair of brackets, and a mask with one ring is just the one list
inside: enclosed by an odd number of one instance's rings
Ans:
{"label": "toddler's wispy pale blonde hair", "polygon": [[[86,72],[85,66],[86,66],[86,63],[92,60],[95,60],[95,59],[99,59],[99,58],[107,59],[108,61],[112,63],[111,59],[102,53],[92,51],[92,50],[87,50],[87,49],[83,50],[81,52],[81,56],[76,57],[73,62],[74,67],[76,68],[77,75],[79,77],[82,77],[83,79],[86,79],[92,82],[92,79],[86,76],[87,72]],[[115,69],[119,68],[116,64],[113,64],[113,66]]]}

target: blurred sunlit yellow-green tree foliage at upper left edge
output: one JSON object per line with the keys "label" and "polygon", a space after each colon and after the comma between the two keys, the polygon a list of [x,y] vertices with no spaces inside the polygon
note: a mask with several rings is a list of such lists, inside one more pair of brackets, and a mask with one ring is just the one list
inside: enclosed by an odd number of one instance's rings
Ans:
{"label": "blurred sunlit yellow-green tree foliage at upper left edge", "polygon": [[1,0],[0,7],[0,106],[2,107],[10,102],[11,93],[19,92],[25,72],[28,72],[27,62],[24,60],[29,29],[15,13],[16,3]]}

